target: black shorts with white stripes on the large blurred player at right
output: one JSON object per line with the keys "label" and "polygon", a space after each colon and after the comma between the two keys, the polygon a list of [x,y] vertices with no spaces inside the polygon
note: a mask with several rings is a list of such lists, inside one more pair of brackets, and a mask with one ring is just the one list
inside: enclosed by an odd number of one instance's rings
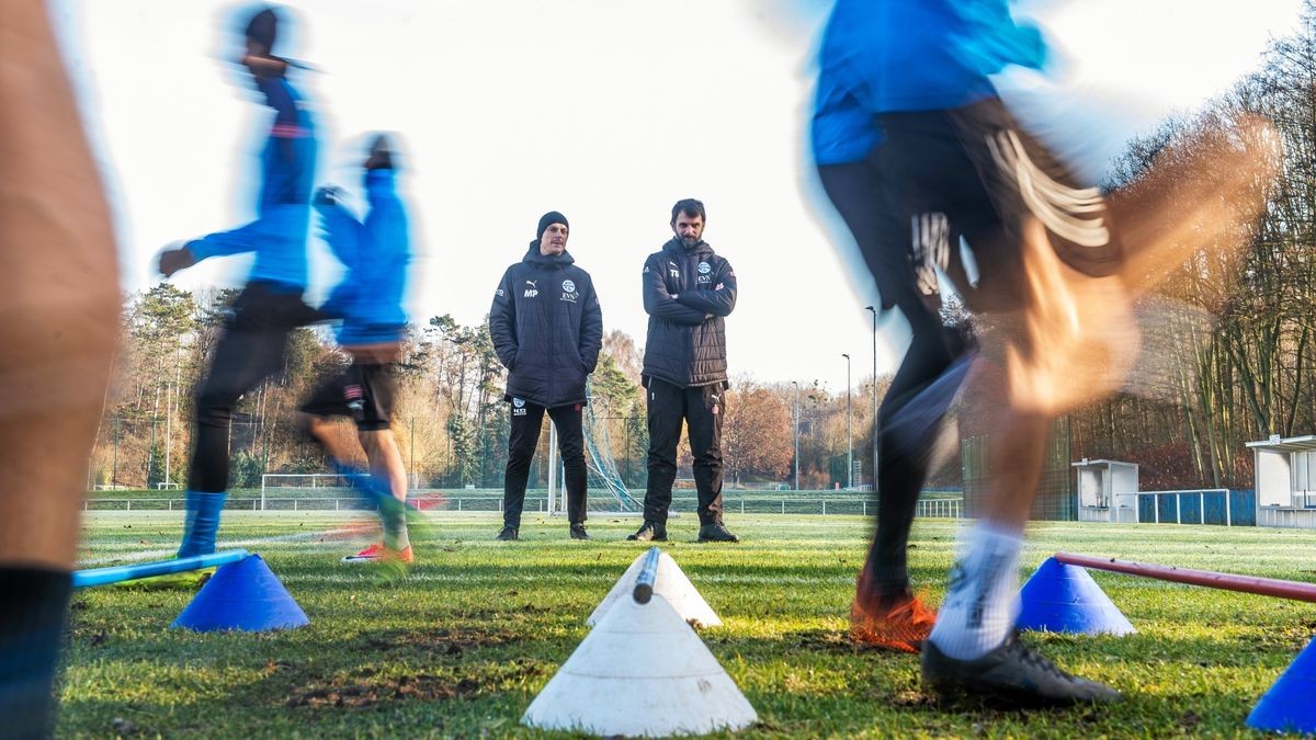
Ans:
{"label": "black shorts with white stripes on the large blurred player at right", "polygon": [[941,263],[959,249],[958,238],[948,242],[953,234],[963,234],[973,251],[976,290],[957,286],[970,307],[1008,309],[1020,298],[1023,228],[1032,219],[1074,270],[1104,277],[1119,269],[1123,250],[1101,192],[1080,187],[999,99],[884,113],[879,121],[892,207],[909,225],[915,254]]}

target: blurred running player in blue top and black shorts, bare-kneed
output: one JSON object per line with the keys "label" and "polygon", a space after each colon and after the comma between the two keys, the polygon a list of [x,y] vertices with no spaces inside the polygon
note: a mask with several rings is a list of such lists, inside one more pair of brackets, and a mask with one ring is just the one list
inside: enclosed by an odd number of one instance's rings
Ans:
{"label": "blurred running player in blue top and black shorts, bare-kneed", "polygon": [[301,423],[333,457],[340,470],[353,470],[350,450],[340,449],[332,416],[357,423],[357,440],[366,453],[366,490],[379,507],[383,541],[347,556],[343,562],[413,562],[407,531],[407,467],[390,428],[393,412],[393,363],[407,336],[407,266],[411,233],[407,209],[397,196],[392,149],[378,134],[365,162],[365,220],[342,205],[337,188],[321,188],[315,208],[325,240],[347,269],[320,312],[342,320],[338,345],[351,365],[322,383],[301,407]]}

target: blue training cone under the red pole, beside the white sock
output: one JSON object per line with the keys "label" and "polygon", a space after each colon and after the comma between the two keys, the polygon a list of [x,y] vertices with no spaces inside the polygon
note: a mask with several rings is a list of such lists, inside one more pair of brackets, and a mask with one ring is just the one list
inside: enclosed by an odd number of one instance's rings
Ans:
{"label": "blue training cone under the red pole, beside the white sock", "polygon": [[1019,590],[1020,629],[1079,635],[1132,635],[1133,624],[1087,569],[1049,557]]}

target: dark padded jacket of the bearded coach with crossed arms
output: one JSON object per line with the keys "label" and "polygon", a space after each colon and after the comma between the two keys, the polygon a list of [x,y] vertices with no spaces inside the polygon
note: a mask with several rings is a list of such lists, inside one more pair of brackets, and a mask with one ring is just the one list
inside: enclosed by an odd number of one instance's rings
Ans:
{"label": "dark padded jacket of the bearded coach with crossed arms", "polygon": [[722,317],[736,308],[730,263],[707,242],[686,249],[672,238],[645,261],[644,292],[649,313],[645,377],[680,387],[725,382]]}

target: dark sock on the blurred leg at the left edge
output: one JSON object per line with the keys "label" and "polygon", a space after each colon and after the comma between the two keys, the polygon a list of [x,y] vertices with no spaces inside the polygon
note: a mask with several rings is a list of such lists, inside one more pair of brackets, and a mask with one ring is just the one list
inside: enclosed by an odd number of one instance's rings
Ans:
{"label": "dark sock on the blurred leg at the left edge", "polygon": [[0,568],[0,718],[5,737],[49,737],[72,577]]}

